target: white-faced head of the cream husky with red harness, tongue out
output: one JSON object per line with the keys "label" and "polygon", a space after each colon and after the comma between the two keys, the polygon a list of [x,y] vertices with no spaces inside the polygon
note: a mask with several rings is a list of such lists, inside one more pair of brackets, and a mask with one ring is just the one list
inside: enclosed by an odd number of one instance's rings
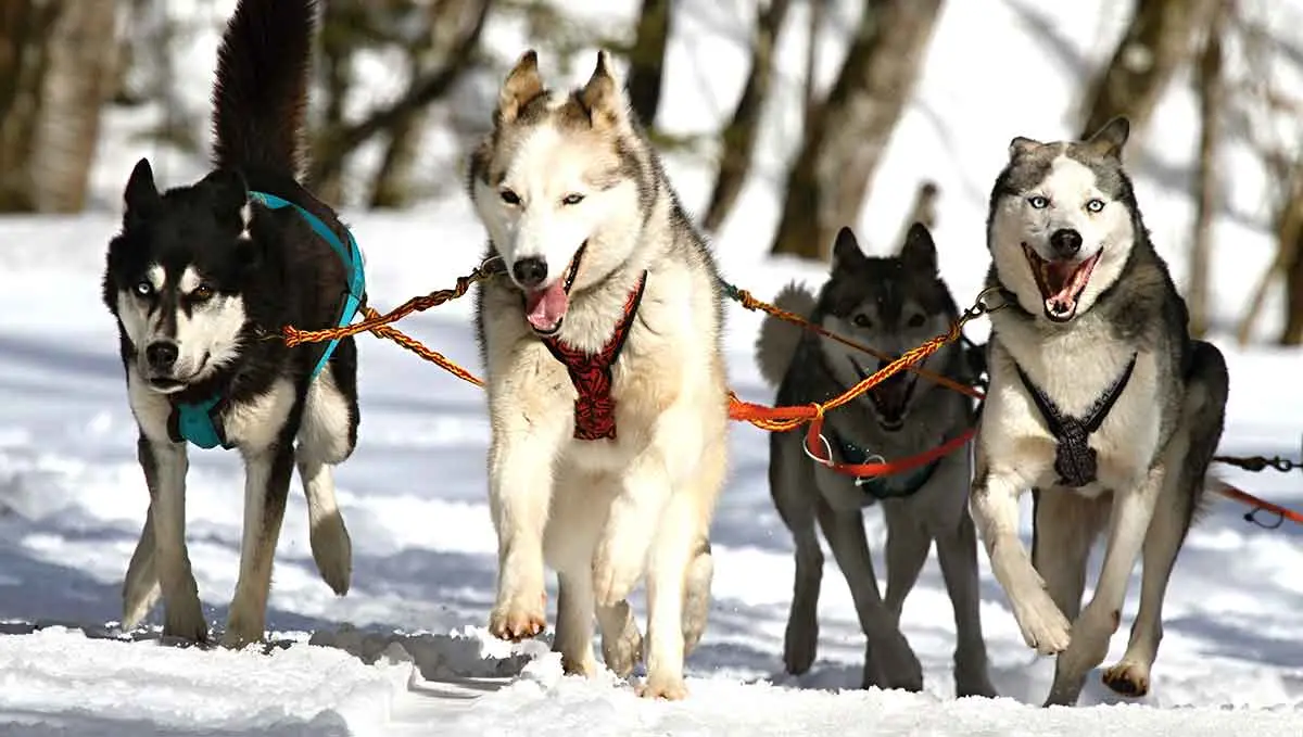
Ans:
{"label": "white-faced head of the cream husky with red harness, tongue out", "polygon": [[525,319],[555,335],[571,292],[601,281],[641,232],[646,163],[625,146],[628,102],[606,52],[571,94],[543,87],[526,52],[499,92],[493,135],[470,160],[470,197],[507,273],[525,294]]}

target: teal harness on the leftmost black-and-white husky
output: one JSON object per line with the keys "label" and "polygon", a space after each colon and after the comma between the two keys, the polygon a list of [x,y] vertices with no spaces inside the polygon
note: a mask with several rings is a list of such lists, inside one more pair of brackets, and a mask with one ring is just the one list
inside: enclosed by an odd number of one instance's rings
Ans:
{"label": "teal harness on the leftmost black-and-white husky", "polygon": [[[362,251],[357,247],[357,241],[353,238],[353,233],[345,228],[345,233],[348,234],[348,246],[345,246],[339,240],[339,236],[322,223],[321,217],[317,217],[293,202],[265,191],[250,191],[249,197],[257,199],[268,210],[293,207],[298,211],[298,215],[308,221],[313,232],[330,243],[330,246],[339,255],[340,260],[343,260],[344,266],[348,268],[348,294],[344,298],[344,309],[340,311],[337,326],[345,327],[353,322],[357,311],[362,307],[362,299],[366,294],[366,275],[362,270]],[[331,339],[331,341],[326,344],[326,350],[322,352],[322,357],[317,361],[317,366],[313,367],[313,372],[308,376],[309,382],[315,379],[317,375],[326,368],[326,362],[330,361],[330,357],[335,353],[337,346],[337,337]],[[232,445],[227,444],[225,434],[222,431],[222,421],[218,417],[222,398],[222,395],[214,395],[198,402],[175,404],[171,427],[168,428],[172,435],[172,440],[176,443],[185,440],[203,449],[216,448],[218,445],[231,449]]]}

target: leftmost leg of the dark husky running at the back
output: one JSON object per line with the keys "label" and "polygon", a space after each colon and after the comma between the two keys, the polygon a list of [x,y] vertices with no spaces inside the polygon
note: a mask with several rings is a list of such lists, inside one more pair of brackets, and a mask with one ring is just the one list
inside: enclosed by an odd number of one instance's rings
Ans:
{"label": "leftmost leg of the dark husky running at the back", "polygon": [[792,605],[783,635],[783,665],[794,676],[809,671],[818,652],[818,595],[823,582],[823,551],[814,518],[818,490],[800,443],[799,434],[770,434],[770,495],[796,546]]}

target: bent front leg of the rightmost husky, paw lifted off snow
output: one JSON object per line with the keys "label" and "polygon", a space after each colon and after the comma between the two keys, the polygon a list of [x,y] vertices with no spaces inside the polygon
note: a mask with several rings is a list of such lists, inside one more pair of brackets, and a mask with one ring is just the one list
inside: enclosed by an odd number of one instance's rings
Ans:
{"label": "bent front leg of the rightmost husky, paw lifted off snow", "polygon": [[1045,581],[1032,566],[1027,548],[1018,539],[1018,497],[1031,479],[1010,469],[988,467],[981,447],[969,509],[999,582],[1028,647],[1041,655],[1067,648],[1070,624],[1045,591]]}

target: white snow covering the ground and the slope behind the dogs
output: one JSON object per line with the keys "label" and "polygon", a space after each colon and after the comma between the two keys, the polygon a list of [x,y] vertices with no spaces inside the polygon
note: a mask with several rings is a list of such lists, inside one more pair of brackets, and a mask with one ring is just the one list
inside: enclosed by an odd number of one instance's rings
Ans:
{"label": "white snow covering the ground and the slope behind the dogs", "polygon": [[[215,20],[231,0],[201,5]],[[623,22],[624,0],[590,14]],[[727,116],[745,73],[749,3],[683,3],[671,40],[663,126],[709,133]],[[893,242],[917,182],[941,185],[936,236],[945,276],[959,301],[976,294],[986,267],[985,198],[1016,134],[1071,134],[1078,78],[1111,48],[1123,3],[1033,5],[1019,0],[950,3],[938,23],[917,95],[874,180],[857,230],[873,251]],[[799,5],[800,7],[800,5]],[[840,3],[837,13],[848,12]],[[1300,27],[1303,10],[1281,3],[1277,27]],[[847,23],[834,13],[837,27]],[[799,17],[792,29],[804,27]],[[758,176],[715,240],[724,273],[760,296],[820,268],[764,259],[780,204],[780,181],[797,121],[800,34],[780,44],[784,73],[771,109]],[[528,39],[511,23],[489,29],[509,61]],[[835,68],[844,38],[822,60]],[[203,105],[216,36],[185,44],[190,102]],[[840,47],[835,44],[842,44]],[[573,61],[582,81],[592,57]],[[545,57],[545,73],[560,68]],[[374,85],[396,85],[382,60]],[[391,82],[386,85],[386,82]],[[1160,250],[1184,272],[1194,146],[1190,95],[1178,81],[1151,133],[1131,150],[1136,186]],[[362,100],[365,102],[365,100]],[[358,104],[362,104],[358,102]],[[769,500],[764,435],[731,431],[732,474],[713,531],[714,609],[688,660],[692,698],[646,703],[620,684],[562,678],[546,642],[507,645],[487,637],[495,542],[485,503],[489,428],[482,397],[399,348],[361,339],[362,428],[354,457],[339,469],[340,501],[353,536],[353,590],[332,596],[315,574],[306,508],[297,482],[278,549],[270,628],[259,652],[199,652],[156,646],[156,632],[119,637],[119,586],[143,522],[146,492],[134,461],[136,430],[121,385],[116,335],[99,303],[103,247],[117,227],[116,203],[142,150],[129,135],[149,111],[112,116],[96,169],[99,211],[68,219],[0,220],[0,733],[17,734],[1157,734],[1303,733],[1303,535],[1265,531],[1218,501],[1196,529],[1173,577],[1166,639],[1147,706],[1118,699],[1092,678],[1084,708],[1038,710],[1053,663],[1027,650],[981,556],[982,625],[993,680],[1009,698],[954,701],[951,609],[936,565],[907,600],[903,629],[925,668],[924,694],[860,691],[863,635],[844,579],[829,556],[821,600],[820,659],[801,678],[782,673],[790,603],[791,542]],[[430,165],[455,180],[460,152],[431,135]],[[163,156],[164,184],[202,172],[202,161]],[[670,174],[689,207],[705,202],[709,173],[672,156]],[[1243,290],[1270,258],[1264,228],[1265,180],[1243,150],[1227,156],[1229,211],[1217,221],[1218,324],[1238,316]],[[367,257],[378,307],[434,288],[474,264],[482,230],[464,197],[409,212],[345,207]],[[1278,303],[1273,296],[1272,306]],[[1269,309],[1272,309],[1269,306]],[[1261,332],[1274,329],[1274,315]],[[734,388],[771,398],[751,361],[758,320],[732,307],[727,344]],[[478,370],[469,302],[404,323],[405,329]],[[984,329],[975,331],[984,335]],[[1234,349],[1217,336],[1231,370],[1224,451],[1299,454],[1303,392],[1280,383],[1298,371],[1298,352]],[[1298,477],[1227,478],[1283,503],[1303,503]],[[210,621],[222,625],[235,587],[240,539],[240,467],[231,454],[193,452],[189,540]],[[1024,512],[1025,517],[1025,512]],[[881,561],[883,527],[866,513]],[[1139,582],[1132,582],[1138,594]],[[637,605],[641,608],[641,599]],[[1124,625],[1135,613],[1128,598]],[[152,622],[159,621],[159,612]],[[1128,625],[1127,625],[1128,626]],[[69,629],[70,628],[70,629]],[[1121,656],[1126,626],[1110,659]],[[308,643],[326,647],[311,647]],[[1106,663],[1109,663],[1106,661]],[[1097,704],[1093,706],[1092,704]],[[1160,707],[1160,708],[1149,708]]]}

